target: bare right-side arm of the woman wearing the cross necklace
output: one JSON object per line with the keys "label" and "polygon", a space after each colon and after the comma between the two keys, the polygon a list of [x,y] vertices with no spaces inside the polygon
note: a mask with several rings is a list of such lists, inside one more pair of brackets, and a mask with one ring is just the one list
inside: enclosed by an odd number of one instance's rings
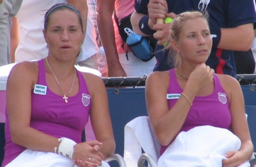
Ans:
{"label": "bare right-side arm of the woman wearing the cross necklace", "polygon": [[[89,74],[87,79],[93,105],[90,110],[90,118],[96,140],[101,142],[100,152],[104,157],[115,151],[115,139],[109,112],[108,95],[102,79]],[[87,76],[87,78],[89,78]]]}

